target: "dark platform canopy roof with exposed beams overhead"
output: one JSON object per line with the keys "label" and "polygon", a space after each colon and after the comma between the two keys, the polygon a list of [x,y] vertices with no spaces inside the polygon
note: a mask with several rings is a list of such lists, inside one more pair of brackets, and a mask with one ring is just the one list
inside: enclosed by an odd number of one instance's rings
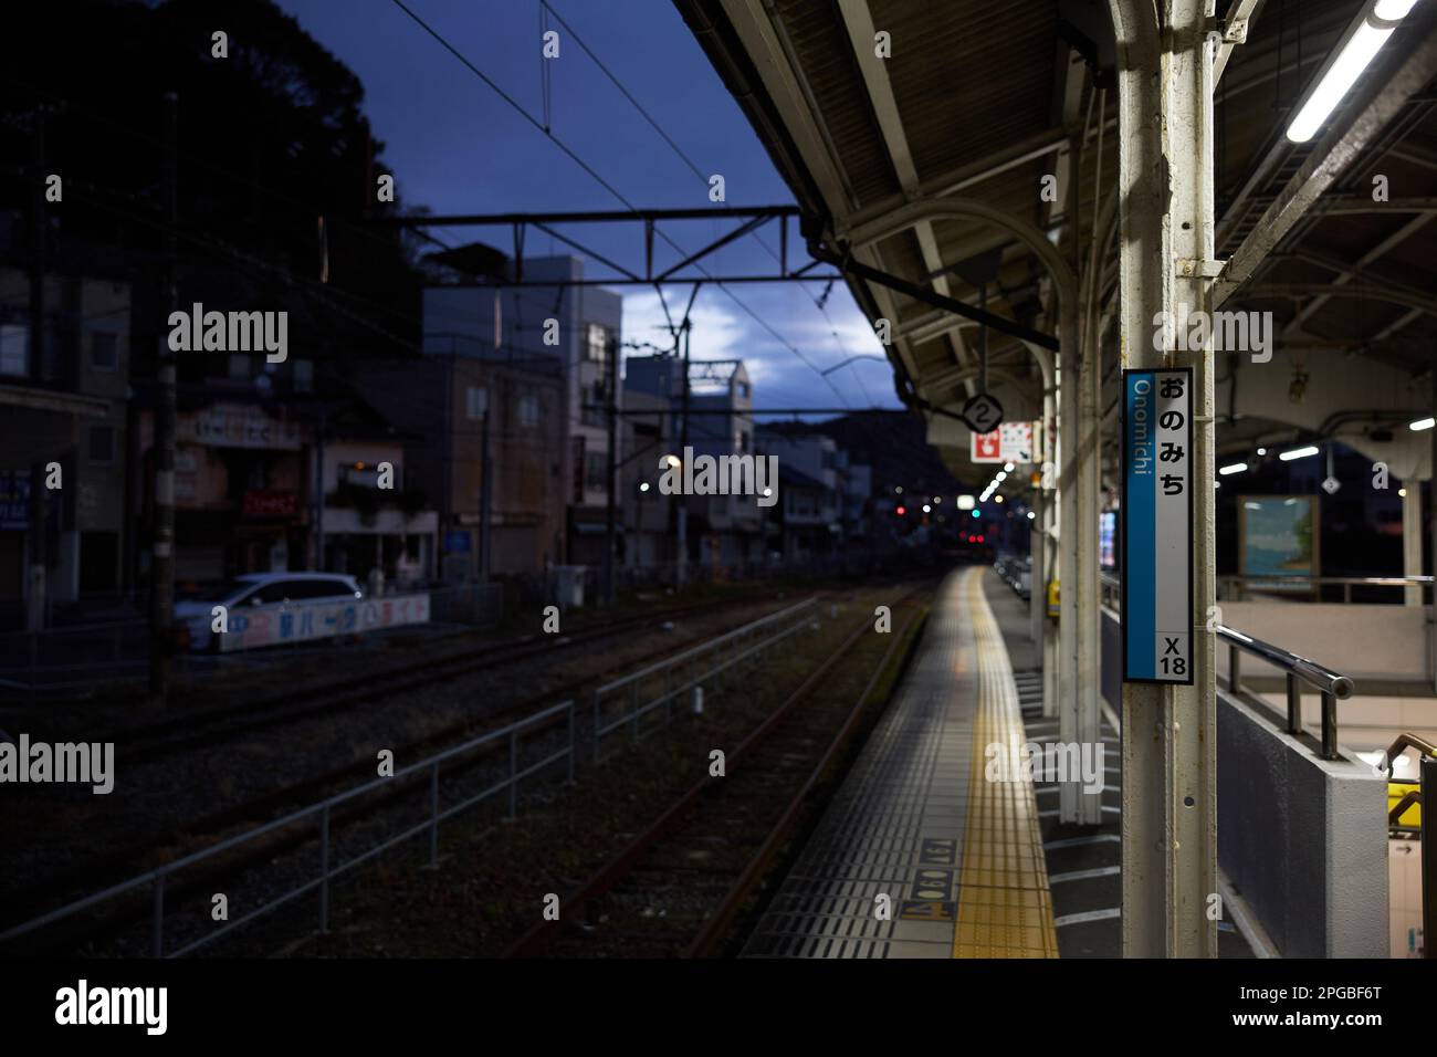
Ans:
{"label": "dark platform canopy roof with exposed beams overhead", "polygon": [[[1106,0],[675,3],[815,219],[809,234],[829,250],[969,305],[986,303],[1019,328],[1056,338],[1049,269],[1030,239],[989,214],[1036,229],[1076,270],[1098,227],[1105,237],[1094,311],[1108,314],[1111,423],[1117,226],[1095,224],[1105,206],[1112,209],[1118,174],[1117,49]],[[1265,253],[1223,308],[1270,311],[1276,331],[1275,357],[1262,374],[1257,364],[1227,372],[1226,408],[1220,385],[1220,450],[1282,433],[1336,436],[1334,414],[1351,429],[1351,413],[1372,406],[1344,381],[1354,367],[1384,391],[1400,390],[1398,406],[1433,407],[1437,68],[1415,89],[1411,78],[1392,86],[1403,63],[1433,46],[1431,7],[1433,0],[1418,3],[1322,135],[1293,144],[1285,131],[1295,104],[1365,4],[1217,3],[1217,30],[1239,19],[1247,26],[1244,43],[1223,49],[1214,99],[1217,256],[1237,253],[1244,242]],[[1351,150],[1362,115],[1394,92],[1401,98],[1390,119]],[[1266,210],[1292,190],[1306,161],[1326,152],[1342,158],[1339,177],[1266,244],[1273,230]],[[1377,177],[1385,177],[1387,201],[1374,201]],[[1045,194],[1048,187],[1056,193]],[[943,206],[957,200],[966,203],[963,216]],[[931,408],[961,407],[977,384],[980,326],[868,278],[851,275],[849,288],[871,319],[891,321],[890,358],[905,400],[927,406],[930,423],[944,418]],[[989,387],[1010,418],[1040,411],[1042,374],[1027,338],[996,326],[987,332]],[[1223,375],[1220,364],[1220,383]],[[1323,380],[1346,394],[1332,406],[1308,404]],[[1247,400],[1243,381],[1250,383]],[[967,431],[951,421],[930,436],[950,446],[954,469],[976,479],[980,469],[961,453]],[[1368,420],[1359,429],[1381,424]]]}

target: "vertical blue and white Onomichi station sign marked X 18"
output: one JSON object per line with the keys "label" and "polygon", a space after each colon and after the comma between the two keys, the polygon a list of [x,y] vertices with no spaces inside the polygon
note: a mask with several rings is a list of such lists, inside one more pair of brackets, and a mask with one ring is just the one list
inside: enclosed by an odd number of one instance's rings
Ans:
{"label": "vertical blue and white Onomichi station sign marked X 18", "polygon": [[1122,679],[1193,682],[1193,370],[1122,372]]}

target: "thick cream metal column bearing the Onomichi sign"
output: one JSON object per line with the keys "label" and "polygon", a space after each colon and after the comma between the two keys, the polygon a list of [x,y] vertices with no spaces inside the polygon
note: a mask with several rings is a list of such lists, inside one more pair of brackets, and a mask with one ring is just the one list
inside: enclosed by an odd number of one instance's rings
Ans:
{"label": "thick cream metal column bearing the Onomichi sign", "polygon": [[[1194,370],[1193,686],[1122,687],[1122,952],[1213,958],[1217,922],[1213,352],[1160,349],[1160,312],[1210,311],[1213,0],[1109,0],[1118,36],[1122,365]],[[1184,262],[1184,263],[1180,263]],[[1181,272],[1181,276],[1180,276]]]}

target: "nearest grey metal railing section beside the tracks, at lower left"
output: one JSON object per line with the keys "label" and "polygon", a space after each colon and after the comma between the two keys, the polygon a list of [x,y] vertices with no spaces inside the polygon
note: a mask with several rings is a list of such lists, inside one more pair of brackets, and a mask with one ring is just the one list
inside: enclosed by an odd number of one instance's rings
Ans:
{"label": "nearest grey metal railing section beside the tracks, at lower left", "polygon": [[[520,767],[519,762],[520,738],[558,725],[560,722],[560,716],[563,716],[568,720],[568,741],[565,746],[547,754],[546,756],[533,764]],[[397,844],[402,844],[404,841],[412,840],[414,837],[418,837],[421,834],[428,834],[430,866],[437,866],[441,821],[451,818],[453,815],[460,814],[461,811],[467,811],[504,791],[509,792],[509,805],[506,817],[514,818],[519,813],[519,784],[525,778],[535,775],[545,768],[553,767],[560,761],[568,761],[568,781],[572,782],[573,767],[575,767],[575,741],[578,732],[576,719],[578,713],[575,709],[575,703],[572,700],[563,702],[560,705],[553,705],[547,709],[543,709],[542,712],[536,712],[532,716],[526,716],[525,719],[520,719],[514,723],[503,726],[497,731],[491,731],[490,733],[486,733],[480,738],[474,738],[473,741],[464,742],[463,745],[456,745],[454,748],[445,749],[444,752],[438,752],[433,756],[428,756],[427,759],[421,759],[417,764],[399,768],[398,771],[394,772],[392,777],[374,778],[354,790],[348,790],[345,792],[329,797],[328,800],[310,804],[309,807],[300,808],[299,811],[293,811],[292,814],[287,814],[283,818],[276,818],[272,823],[266,823],[264,825],[250,830],[249,833],[230,837],[228,840],[214,844],[213,847],[208,847],[203,851],[195,851],[194,854],[185,856],[172,863],[167,863],[161,867],[131,877],[129,880],[112,884],[111,887],[102,892],[96,892],[92,896],[86,896],[85,899],[68,903],[66,906],[62,906],[56,910],[50,910],[49,913],[34,918],[33,920],[24,922],[23,925],[17,925],[11,929],[7,929],[6,932],[0,932],[0,943],[6,943],[11,939],[29,935],[42,928],[53,925],[59,920],[80,913],[82,910],[99,906],[101,903],[109,902],[112,899],[116,899],[118,896],[124,896],[129,892],[135,892],[147,886],[149,886],[152,893],[151,915],[149,915],[151,919],[149,949],[154,958],[165,958],[165,956],[180,958],[193,953],[194,951],[198,951],[200,948],[216,942],[221,936],[228,935],[230,932],[241,928],[243,925],[247,925],[254,919],[270,913],[272,910],[277,910],[279,907],[310,892],[319,893],[319,930],[328,932],[329,889],[331,883],[336,877],[348,873],[349,870],[356,869],[358,866],[395,847]],[[441,808],[440,805],[441,765],[447,762],[454,762],[457,758],[463,755],[486,749],[499,745],[502,742],[507,742],[507,749],[509,749],[507,774],[502,779],[487,785],[480,792],[466,797],[457,804]],[[361,797],[365,797],[368,794],[381,790],[387,792],[392,791],[397,782],[414,778],[415,775],[427,775],[430,779],[428,817],[424,821],[415,825],[410,825],[401,833],[388,837],[387,840],[368,848],[366,851],[354,856],[352,859],[343,861],[335,861],[336,856],[333,854],[333,840],[332,840],[333,836],[332,815],[335,808],[351,804],[352,801],[356,801]],[[306,823],[312,823],[316,827],[316,836],[319,838],[319,873],[316,877],[283,892],[282,894],[270,899],[269,902],[254,907],[244,916],[237,918],[233,922],[227,922],[218,929],[214,929],[208,935],[200,936],[198,939],[193,939],[188,943],[174,951],[170,951],[168,955],[165,953],[164,949],[165,884],[171,876],[188,867],[211,861],[216,857],[231,853],[237,848],[244,847],[246,844],[253,844],[254,841],[269,837],[270,834],[277,834],[283,830],[289,830],[292,827]]]}

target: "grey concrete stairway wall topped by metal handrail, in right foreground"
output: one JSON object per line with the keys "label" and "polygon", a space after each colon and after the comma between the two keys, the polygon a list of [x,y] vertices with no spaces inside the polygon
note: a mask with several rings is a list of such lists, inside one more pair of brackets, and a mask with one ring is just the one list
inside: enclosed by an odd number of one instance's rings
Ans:
{"label": "grey concrete stairway wall topped by metal handrail, in right foreground", "polygon": [[1387,781],[1217,695],[1217,861],[1286,958],[1387,958]]}

